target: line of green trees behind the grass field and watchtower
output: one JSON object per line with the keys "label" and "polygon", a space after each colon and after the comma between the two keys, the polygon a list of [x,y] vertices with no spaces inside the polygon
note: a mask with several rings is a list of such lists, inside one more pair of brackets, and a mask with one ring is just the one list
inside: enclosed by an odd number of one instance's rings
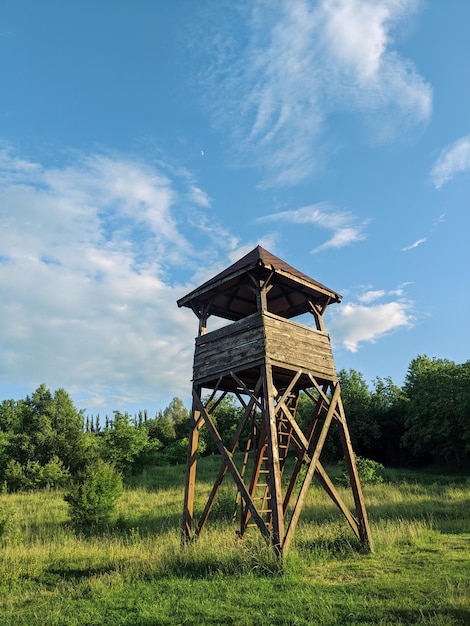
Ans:
{"label": "line of green trees behind the grass field and watchtower", "polygon": [[[338,373],[341,396],[356,454],[388,466],[470,461],[470,361],[418,356],[402,387],[376,378],[372,388],[361,373]],[[297,420],[311,416],[311,399],[301,394]],[[236,399],[226,396],[214,411],[217,428],[230,441],[241,417]],[[175,397],[153,418],[113,412],[99,416],[77,410],[64,389],[41,385],[22,400],[0,405],[0,488],[4,492],[64,486],[98,460],[122,474],[186,460],[189,410]],[[341,458],[330,433],[324,454]],[[199,453],[216,446],[202,429]]]}

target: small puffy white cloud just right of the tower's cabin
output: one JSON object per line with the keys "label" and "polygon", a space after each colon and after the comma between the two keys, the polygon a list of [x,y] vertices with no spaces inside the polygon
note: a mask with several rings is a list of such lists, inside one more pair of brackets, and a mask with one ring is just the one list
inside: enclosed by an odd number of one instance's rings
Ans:
{"label": "small puffy white cloud just right of the tower's cabin", "polygon": [[357,352],[363,343],[374,343],[392,331],[411,327],[412,305],[402,294],[402,288],[389,292],[368,290],[356,302],[342,304],[328,322],[335,343]]}

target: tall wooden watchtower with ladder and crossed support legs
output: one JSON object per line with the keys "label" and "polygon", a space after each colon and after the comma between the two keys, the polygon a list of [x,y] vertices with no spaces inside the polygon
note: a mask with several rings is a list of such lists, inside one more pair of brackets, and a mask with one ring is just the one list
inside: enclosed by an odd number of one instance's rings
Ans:
{"label": "tall wooden watchtower with ladder and crossed support legs", "polygon": [[[341,296],[260,246],[178,300],[199,318],[193,368],[193,405],[182,519],[182,539],[196,539],[224,477],[237,487],[239,536],[256,525],[276,553],[286,553],[315,476],[346,517],[363,547],[372,550],[346,416],[323,314]],[[314,326],[291,321],[311,313]],[[206,332],[209,316],[232,322]],[[313,326],[313,325],[312,325]],[[231,441],[223,441],[212,413],[227,393],[243,407]],[[299,395],[312,400],[303,428]],[[221,455],[221,468],[198,520],[193,518],[199,431],[205,426]],[[349,473],[351,513],[320,460],[336,427]],[[239,450],[240,440],[248,440]],[[235,457],[235,452],[244,452]],[[288,459],[289,456],[289,459]]]}

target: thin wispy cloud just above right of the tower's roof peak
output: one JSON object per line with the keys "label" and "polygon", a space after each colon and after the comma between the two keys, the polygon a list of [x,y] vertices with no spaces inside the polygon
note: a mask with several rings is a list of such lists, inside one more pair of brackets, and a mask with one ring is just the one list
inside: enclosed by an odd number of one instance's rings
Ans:
{"label": "thin wispy cloud just above right of the tower's roof peak", "polygon": [[311,252],[321,252],[328,248],[344,248],[366,238],[364,229],[368,220],[359,222],[350,212],[343,211],[329,202],[318,202],[300,209],[280,211],[264,215],[256,220],[263,222],[288,222],[291,224],[310,224],[333,231],[332,236],[314,248]]}

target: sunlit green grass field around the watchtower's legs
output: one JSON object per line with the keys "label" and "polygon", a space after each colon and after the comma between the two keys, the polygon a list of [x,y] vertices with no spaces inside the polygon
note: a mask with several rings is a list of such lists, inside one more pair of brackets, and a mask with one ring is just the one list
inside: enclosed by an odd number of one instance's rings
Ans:
{"label": "sunlit green grass field around the watchtower's legs", "polygon": [[236,541],[229,487],[182,550],[184,473],[134,477],[116,521],[93,533],[70,528],[61,492],[0,496],[0,624],[470,624],[468,478],[389,471],[365,486],[373,554],[313,486],[281,563],[258,531]]}

